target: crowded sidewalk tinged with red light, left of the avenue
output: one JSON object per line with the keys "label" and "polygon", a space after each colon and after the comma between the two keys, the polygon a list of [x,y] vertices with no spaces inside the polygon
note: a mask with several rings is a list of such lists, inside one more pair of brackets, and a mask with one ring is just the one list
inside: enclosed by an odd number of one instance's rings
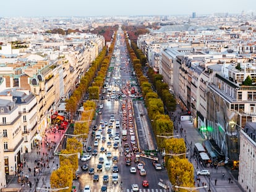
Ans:
{"label": "crowded sidewalk tinged with red light, left of the avenue", "polygon": [[[53,129],[54,130],[54,129]],[[53,131],[46,130],[41,143],[39,141],[30,153],[24,154],[24,165],[18,182],[18,175],[9,176],[10,182],[7,188],[22,188],[22,191],[36,191],[38,188],[50,188],[49,177],[53,170],[58,169],[59,157],[54,156],[53,152],[59,141],[64,135],[64,130]],[[23,186],[23,187],[22,187]]]}

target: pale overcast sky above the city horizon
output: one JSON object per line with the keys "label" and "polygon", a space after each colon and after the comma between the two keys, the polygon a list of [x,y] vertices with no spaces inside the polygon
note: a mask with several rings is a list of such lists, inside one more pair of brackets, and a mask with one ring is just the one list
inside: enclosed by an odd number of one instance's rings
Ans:
{"label": "pale overcast sky above the city horizon", "polygon": [[5,0],[0,17],[255,14],[255,9],[255,0]]}

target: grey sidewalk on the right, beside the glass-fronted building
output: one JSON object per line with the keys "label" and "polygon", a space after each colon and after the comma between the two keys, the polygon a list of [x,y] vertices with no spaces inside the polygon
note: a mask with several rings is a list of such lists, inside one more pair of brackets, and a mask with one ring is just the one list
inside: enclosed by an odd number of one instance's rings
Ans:
{"label": "grey sidewalk on the right, beside the glass-fronted building", "polygon": [[[194,173],[195,173],[195,182],[199,186],[203,186],[202,183],[206,183],[208,188],[206,189],[200,189],[199,191],[208,191],[209,186],[210,190],[213,192],[225,192],[225,191],[233,191],[233,192],[241,192],[242,189],[239,188],[239,184],[237,183],[237,180],[234,179],[233,175],[231,172],[229,172],[226,167],[221,166],[218,167],[218,169],[215,169],[213,167],[205,168],[203,165],[198,163],[197,159],[192,157],[193,156],[193,151],[194,151],[194,144],[195,143],[202,143],[203,138],[202,135],[197,131],[197,128],[194,127],[192,122],[189,120],[187,121],[181,121],[181,123],[177,122],[177,117],[181,114],[182,110],[179,105],[177,105],[176,112],[174,112],[174,116],[176,115],[176,121],[174,121],[174,126],[176,130],[174,130],[174,133],[179,135],[179,138],[184,138],[186,141],[186,146],[187,146],[187,157],[189,161],[194,165]],[[181,131],[181,128],[183,128],[183,131]],[[192,155],[191,155],[192,154]],[[190,158],[190,156],[192,158]],[[211,177],[206,177],[206,176],[198,176],[200,178],[200,182],[198,183],[196,178],[197,178],[197,171],[202,170],[202,169],[208,169],[211,172]],[[224,173],[224,177],[223,177]],[[231,178],[231,182],[229,183],[228,178]],[[215,180],[216,180],[216,185],[215,185]],[[209,185],[210,181],[210,185]]]}

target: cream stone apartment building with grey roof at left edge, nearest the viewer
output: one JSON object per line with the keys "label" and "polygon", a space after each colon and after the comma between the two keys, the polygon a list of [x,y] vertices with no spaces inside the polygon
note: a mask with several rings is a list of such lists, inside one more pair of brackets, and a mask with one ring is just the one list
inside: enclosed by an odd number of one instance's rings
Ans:
{"label": "cream stone apartment building with grey roof at left edge, nearest the viewer", "polygon": [[22,166],[23,154],[38,144],[37,106],[31,91],[15,88],[0,93],[0,105],[0,180],[6,181],[6,175],[14,175]]}

